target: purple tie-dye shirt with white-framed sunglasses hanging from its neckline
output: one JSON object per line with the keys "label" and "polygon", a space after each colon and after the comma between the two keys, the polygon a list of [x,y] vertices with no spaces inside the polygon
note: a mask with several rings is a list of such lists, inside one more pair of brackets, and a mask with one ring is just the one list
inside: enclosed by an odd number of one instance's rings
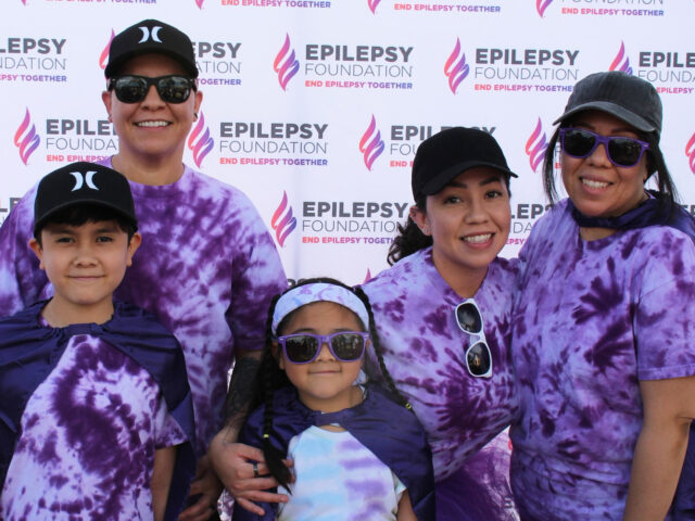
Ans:
{"label": "purple tie-dye shirt with white-framed sunglasses hanging from its neckline", "polygon": [[[492,378],[471,377],[466,368],[464,355],[471,335],[458,328],[454,315],[464,298],[440,276],[431,247],[401,259],[363,287],[387,368],[427,431],[438,481],[438,519],[446,519],[439,501],[448,488],[464,508],[472,500],[462,490],[458,471],[517,412],[509,355],[516,271],[516,260],[496,258],[475,296],[492,354]],[[375,373],[374,367],[370,360],[368,371]],[[490,487],[507,487],[508,453],[495,448],[490,456],[498,458],[489,461],[498,472]],[[480,468],[478,462],[476,469]],[[483,480],[482,474],[479,478]]]}

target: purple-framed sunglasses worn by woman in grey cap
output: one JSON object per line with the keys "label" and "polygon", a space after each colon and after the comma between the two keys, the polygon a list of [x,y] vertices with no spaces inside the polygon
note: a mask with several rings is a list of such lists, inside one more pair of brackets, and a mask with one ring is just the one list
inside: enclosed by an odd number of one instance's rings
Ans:
{"label": "purple-framed sunglasses worn by woman in grey cap", "polygon": [[584,128],[560,128],[560,145],[567,155],[577,158],[589,157],[601,143],[606,148],[608,161],[616,166],[636,165],[649,143],[619,136],[599,136]]}

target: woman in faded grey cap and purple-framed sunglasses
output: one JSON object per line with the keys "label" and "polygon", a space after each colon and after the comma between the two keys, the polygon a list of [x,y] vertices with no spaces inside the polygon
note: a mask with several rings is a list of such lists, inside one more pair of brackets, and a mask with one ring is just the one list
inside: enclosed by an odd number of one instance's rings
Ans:
{"label": "woman in faded grey cap and purple-framed sunglasses", "polygon": [[652,85],[587,76],[558,122],[544,169],[555,204],[520,255],[515,498],[522,520],[664,520],[695,417],[695,226],[675,204]]}

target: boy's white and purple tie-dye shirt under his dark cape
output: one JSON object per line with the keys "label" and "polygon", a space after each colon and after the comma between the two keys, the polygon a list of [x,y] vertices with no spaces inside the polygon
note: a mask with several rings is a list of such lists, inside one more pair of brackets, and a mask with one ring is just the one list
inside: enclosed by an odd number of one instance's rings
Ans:
{"label": "boy's white and purple tie-dye shirt under his dark cape", "polygon": [[143,368],[73,336],[27,402],[0,518],[152,519],[154,452],[185,440]]}

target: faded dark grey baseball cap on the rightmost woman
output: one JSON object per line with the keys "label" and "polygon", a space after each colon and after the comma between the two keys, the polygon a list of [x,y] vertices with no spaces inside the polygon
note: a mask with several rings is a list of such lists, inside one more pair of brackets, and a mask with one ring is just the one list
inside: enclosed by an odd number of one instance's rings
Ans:
{"label": "faded dark grey baseball cap on the rightmost woman", "polygon": [[661,134],[661,99],[654,86],[621,71],[596,73],[580,79],[572,90],[565,114],[554,124],[582,111],[602,111],[637,130]]}

